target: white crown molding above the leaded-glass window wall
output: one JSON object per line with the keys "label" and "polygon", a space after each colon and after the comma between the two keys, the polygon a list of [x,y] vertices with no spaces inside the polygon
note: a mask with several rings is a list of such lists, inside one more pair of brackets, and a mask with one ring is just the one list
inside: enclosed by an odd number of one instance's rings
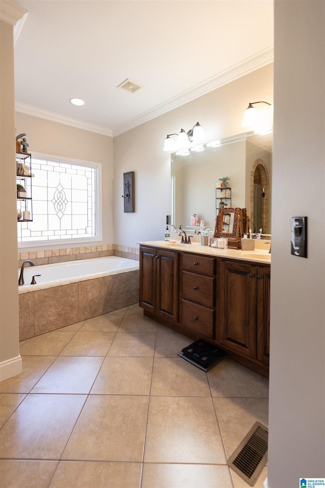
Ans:
{"label": "white crown molding above the leaded-glass window wall", "polygon": [[49,110],[43,110],[42,108],[27,105],[26,103],[16,102],[15,110],[16,112],[33,115],[34,117],[45,118],[46,120],[51,120],[51,122],[57,122],[66,126],[76,127],[77,129],[83,129],[84,131],[113,137],[112,130],[107,127],[96,126],[95,124],[84,122],[83,120],[68,117],[67,115],[61,115],[56,112],[50,112]]}

